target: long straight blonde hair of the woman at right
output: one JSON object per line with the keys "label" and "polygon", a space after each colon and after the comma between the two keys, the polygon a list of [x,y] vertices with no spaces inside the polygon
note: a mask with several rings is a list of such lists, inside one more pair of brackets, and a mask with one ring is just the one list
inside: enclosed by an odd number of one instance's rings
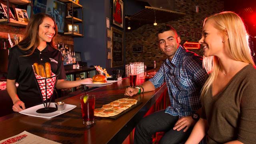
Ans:
{"label": "long straight blonde hair of the woman at right", "polygon": [[[240,16],[234,12],[227,11],[205,18],[204,24],[208,20],[214,22],[214,28],[223,32],[223,34],[226,33],[228,35],[228,39],[226,38],[225,40],[228,40],[228,52],[234,60],[246,62],[255,66],[246,39],[247,31]],[[220,70],[218,58],[216,56],[204,56],[203,67],[210,76],[204,83],[201,97],[206,94],[218,75],[218,71]]]}

